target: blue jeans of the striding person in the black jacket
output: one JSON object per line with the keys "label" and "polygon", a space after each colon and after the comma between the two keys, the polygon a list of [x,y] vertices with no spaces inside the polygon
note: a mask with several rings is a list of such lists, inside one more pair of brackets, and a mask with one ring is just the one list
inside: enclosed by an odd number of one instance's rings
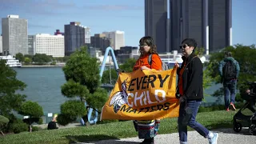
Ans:
{"label": "blue jeans of the striding person in the black jacket", "polygon": [[179,108],[179,117],[178,117],[178,134],[179,134],[179,140],[180,142],[187,142],[187,126],[182,126],[180,124],[182,122],[183,114],[182,109],[185,108],[185,106],[190,107],[192,110],[192,118],[190,119],[190,122],[188,122],[188,126],[193,128],[194,130],[197,130],[199,134],[201,134],[203,137],[207,137],[209,134],[209,130],[206,129],[206,127],[202,126],[200,123],[196,122],[195,118],[198,114],[198,108],[201,105],[202,100],[187,100],[186,102],[182,102]]}

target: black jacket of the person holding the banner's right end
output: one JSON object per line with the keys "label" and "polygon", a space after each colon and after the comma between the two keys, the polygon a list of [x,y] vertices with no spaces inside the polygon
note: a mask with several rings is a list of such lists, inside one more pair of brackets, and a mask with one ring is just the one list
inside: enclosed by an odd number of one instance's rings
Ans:
{"label": "black jacket of the person holding the banner's right end", "polygon": [[[203,88],[202,88],[202,77],[203,77],[203,66],[200,58],[198,58],[194,53],[190,54],[188,58],[182,57],[184,62],[186,62],[186,68],[182,74],[182,87],[186,99],[197,100],[203,98]],[[181,66],[181,67],[182,67]],[[181,67],[178,68],[177,74],[179,74]],[[178,78],[179,82],[179,78]],[[177,86],[176,97],[179,98],[179,88]]]}

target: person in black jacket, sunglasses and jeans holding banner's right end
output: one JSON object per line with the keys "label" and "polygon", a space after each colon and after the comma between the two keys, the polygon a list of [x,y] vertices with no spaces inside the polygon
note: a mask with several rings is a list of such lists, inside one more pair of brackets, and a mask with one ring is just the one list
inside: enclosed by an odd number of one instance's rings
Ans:
{"label": "person in black jacket, sunglasses and jeans holding banner's right end", "polygon": [[[176,97],[179,98],[180,109],[178,116],[178,134],[181,144],[187,143],[187,126],[197,130],[204,138],[208,138],[210,144],[217,144],[218,133],[210,132],[206,127],[196,122],[198,108],[203,98],[202,76],[203,66],[200,58],[194,54],[197,42],[192,38],[186,38],[182,41],[183,62],[179,67],[178,62],[178,86]],[[191,110],[191,117],[188,118],[186,109]]]}

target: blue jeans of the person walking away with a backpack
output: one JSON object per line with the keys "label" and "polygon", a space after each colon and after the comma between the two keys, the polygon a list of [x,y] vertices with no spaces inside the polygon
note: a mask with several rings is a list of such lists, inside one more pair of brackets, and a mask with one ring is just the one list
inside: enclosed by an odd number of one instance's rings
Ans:
{"label": "blue jeans of the person walking away with a backpack", "polygon": [[230,106],[230,102],[234,103],[235,90],[237,89],[237,80],[231,80],[230,82],[224,82],[224,102],[226,109]]}

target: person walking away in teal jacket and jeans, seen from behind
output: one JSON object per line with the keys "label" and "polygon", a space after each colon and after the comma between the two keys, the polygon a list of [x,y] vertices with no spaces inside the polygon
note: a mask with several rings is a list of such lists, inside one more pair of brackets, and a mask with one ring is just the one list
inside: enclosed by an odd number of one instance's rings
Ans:
{"label": "person walking away in teal jacket and jeans, seen from behind", "polygon": [[[223,77],[223,68],[226,62],[233,62],[235,66],[235,76],[231,79],[226,79]],[[224,102],[226,111],[236,110],[234,106],[234,99],[235,99],[235,90],[237,89],[237,78],[240,71],[240,66],[238,61],[236,61],[233,57],[231,52],[225,52],[225,58],[219,62],[218,65],[218,72],[222,77],[223,87],[224,87]],[[230,98],[230,101],[229,101]]]}

